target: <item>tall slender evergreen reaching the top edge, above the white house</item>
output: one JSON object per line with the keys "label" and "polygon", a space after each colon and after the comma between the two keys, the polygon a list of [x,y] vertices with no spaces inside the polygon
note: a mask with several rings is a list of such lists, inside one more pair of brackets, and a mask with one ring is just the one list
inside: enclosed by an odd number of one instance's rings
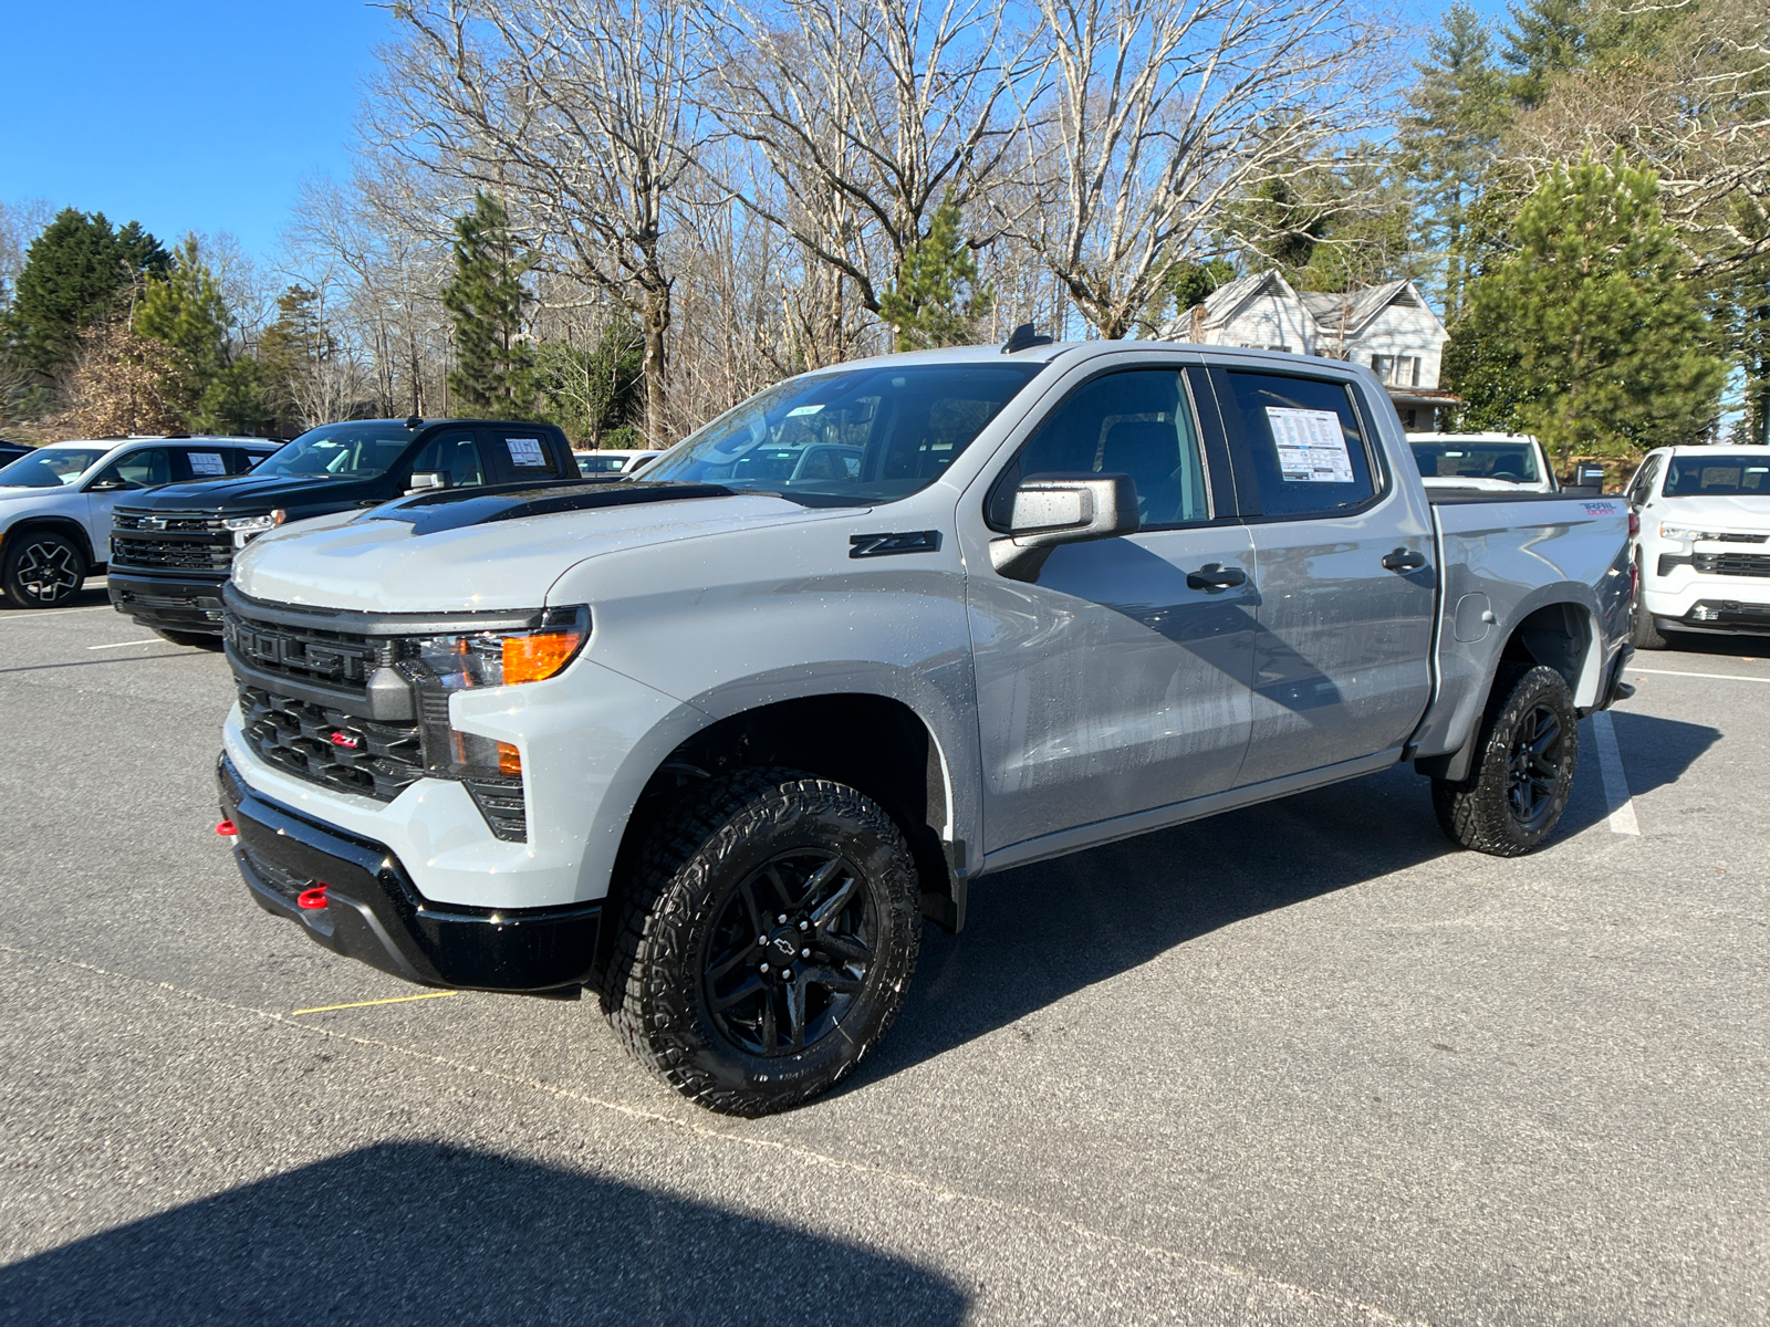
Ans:
{"label": "tall slender evergreen reaching the top edge, above the white house", "polygon": [[1427,57],[1414,65],[1420,81],[1407,92],[1397,159],[1416,189],[1420,241],[1444,255],[1435,294],[1453,320],[1467,278],[1469,209],[1487,186],[1512,111],[1487,23],[1467,5],[1446,11]]}

